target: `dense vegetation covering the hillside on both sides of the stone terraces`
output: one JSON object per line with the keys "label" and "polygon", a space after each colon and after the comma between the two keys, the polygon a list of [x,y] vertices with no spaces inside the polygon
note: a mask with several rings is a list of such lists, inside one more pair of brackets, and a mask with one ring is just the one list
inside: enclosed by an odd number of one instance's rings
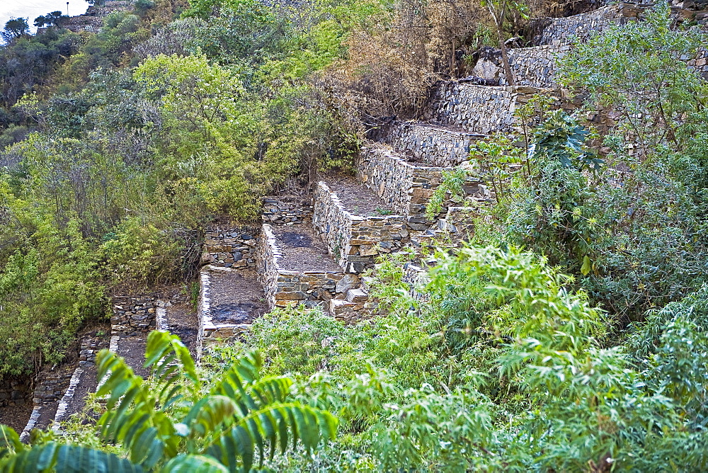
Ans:
{"label": "dense vegetation covering the hillside on both sides of the stone terraces", "polygon": [[[421,5],[284,15],[157,2],[113,13],[98,35],[6,46],[74,50],[3,96],[0,374],[59,361],[115,287],[188,278],[205,222],[252,217],[289,176],[346,168],[368,116],[411,116],[460,67],[451,51],[493,37],[484,3],[453,2],[452,18]],[[439,193],[474,173],[496,205],[469,244],[423,258],[422,298],[401,253],[375,271],[387,314],[356,326],[276,311],[199,370],[153,334],[151,380],[102,355],[114,375],[100,435],[75,419],[64,428],[77,450],[51,432],[25,450],[4,431],[0,457],[97,449],[126,471],[703,471],[708,84],[682,58],[706,42],[659,6],[570,52],[561,79],[588,93],[586,109],[539,97],[518,110],[520,136],[491,137],[447,176]],[[586,127],[588,110],[609,108],[609,134]]]}

